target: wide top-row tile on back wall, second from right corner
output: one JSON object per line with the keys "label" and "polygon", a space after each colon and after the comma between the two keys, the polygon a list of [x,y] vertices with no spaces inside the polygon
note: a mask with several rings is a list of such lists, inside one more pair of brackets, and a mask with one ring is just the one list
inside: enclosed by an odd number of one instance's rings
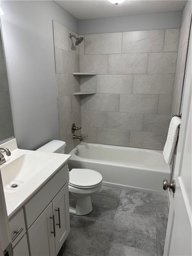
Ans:
{"label": "wide top-row tile on back wall, second from right corner", "polygon": [[162,52],[165,30],[123,32],[122,53]]}

